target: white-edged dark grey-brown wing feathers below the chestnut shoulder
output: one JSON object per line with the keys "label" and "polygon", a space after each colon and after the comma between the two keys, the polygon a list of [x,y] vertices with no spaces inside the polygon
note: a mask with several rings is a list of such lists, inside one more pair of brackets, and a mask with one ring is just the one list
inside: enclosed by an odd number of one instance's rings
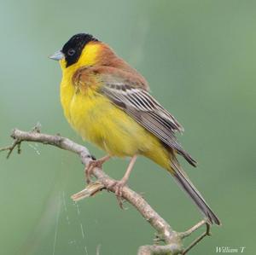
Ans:
{"label": "white-edged dark grey-brown wing feathers below the chestnut shoulder", "polygon": [[101,92],[164,144],[176,150],[178,154],[182,154],[191,165],[195,166],[195,160],[183,150],[175,136],[175,131],[183,131],[182,125],[171,113],[161,107],[160,103],[148,94],[148,91],[128,84],[109,86],[108,83],[104,83]]}

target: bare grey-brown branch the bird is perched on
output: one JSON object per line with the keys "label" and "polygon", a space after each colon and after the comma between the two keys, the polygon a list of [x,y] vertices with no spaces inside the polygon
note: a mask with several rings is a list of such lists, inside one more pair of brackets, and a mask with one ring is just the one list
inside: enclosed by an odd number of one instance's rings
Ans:
{"label": "bare grey-brown branch the bird is perched on", "polygon": [[[39,127],[36,126],[32,131],[26,132],[22,130],[15,129],[11,137],[14,139],[14,142],[11,146],[0,148],[0,151],[9,151],[7,157],[9,158],[10,154],[13,152],[14,148],[18,148],[18,153],[20,154],[20,144],[21,142],[41,142],[46,145],[52,145],[57,148],[61,148],[74,154],[79,155],[79,158],[82,160],[82,163],[86,166],[89,164],[90,160],[93,160],[93,157],[90,155],[90,152],[84,146],[71,141],[66,137],[59,135],[50,136],[47,134],[40,133]],[[86,197],[89,197],[97,192],[101,191],[106,187],[109,188],[113,194],[115,193],[115,186],[112,186],[114,180],[111,177],[108,177],[106,173],[100,168],[94,168],[92,171],[94,177],[96,177],[95,183],[90,183],[86,188],[80,191],[77,194],[73,194],[73,200],[81,200]],[[164,241],[166,245],[153,245],[153,246],[141,246],[138,250],[138,255],[151,255],[151,254],[184,254],[188,252],[192,246],[195,246],[203,237],[209,234],[209,225],[204,220],[200,223],[197,223],[191,229],[178,233],[172,229],[172,227],[166,223],[166,221],[160,217],[160,215],[154,211],[154,209],[148,205],[147,201],[143,199],[140,194],[137,194],[135,191],[131,190],[127,186],[124,187],[122,198],[127,200],[132,206],[134,206],[138,212],[146,219],[148,223],[157,231],[158,241]],[[190,235],[196,229],[200,228],[203,224],[207,224],[207,232],[201,235],[196,239],[187,249],[183,250],[182,240],[186,236]]]}

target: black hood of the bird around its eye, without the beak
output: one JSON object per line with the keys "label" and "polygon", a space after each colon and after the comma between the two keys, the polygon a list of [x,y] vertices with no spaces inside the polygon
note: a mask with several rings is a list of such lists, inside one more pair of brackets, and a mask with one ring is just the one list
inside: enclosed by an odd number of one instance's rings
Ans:
{"label": "black hood of the bird around its eye, without the beak", "polygon": [[65,55],[67,62],[66,67],[69,67],[79,60],[79,57],[84,49],[84,46],[90,42],[97,42],[98,40],[88,33],[78,33],[70,38],[64,44],[61,52]]}

